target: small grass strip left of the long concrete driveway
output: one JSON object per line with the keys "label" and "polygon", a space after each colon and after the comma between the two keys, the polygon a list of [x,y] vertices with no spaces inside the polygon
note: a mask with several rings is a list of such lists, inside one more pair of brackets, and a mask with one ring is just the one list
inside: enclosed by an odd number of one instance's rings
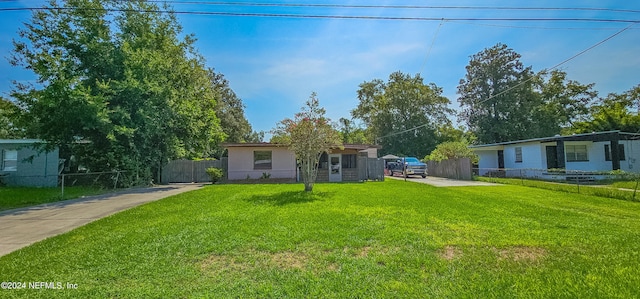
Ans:
{"label": "small grass strip left of the long concrete driveway", "polygon": [[64,198],[59,187],[29,188],[0,187],[0,211],[56,202],[87,195],[104,193],[104,190],[92,187],[66,187]]}

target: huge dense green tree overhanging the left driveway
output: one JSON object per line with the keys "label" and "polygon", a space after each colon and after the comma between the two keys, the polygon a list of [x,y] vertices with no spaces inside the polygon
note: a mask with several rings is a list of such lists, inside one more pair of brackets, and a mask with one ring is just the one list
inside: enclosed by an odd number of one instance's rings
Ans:
{"label": "huge dense green tree overhanging the left driveway", "polygon": [[142,0],[52,0],[35,11],[12,57],[38,77],[13,92],[28,133],[91,171],[146,182],[169,159],[214,152],[224,137],[217,93],[194,37],[161,11]]}

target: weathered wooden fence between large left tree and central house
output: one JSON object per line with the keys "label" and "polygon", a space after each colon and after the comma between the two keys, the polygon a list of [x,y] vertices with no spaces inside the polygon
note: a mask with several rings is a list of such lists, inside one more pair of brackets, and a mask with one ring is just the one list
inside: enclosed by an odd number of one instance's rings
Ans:
{"label": "weathered wooden fence between large left tree and central house", "polygon": [[227,174],[227,160],[173,160],[162,168],[162,183],[203,183],[211,179],[207,175],[207,168],[220,168]]}

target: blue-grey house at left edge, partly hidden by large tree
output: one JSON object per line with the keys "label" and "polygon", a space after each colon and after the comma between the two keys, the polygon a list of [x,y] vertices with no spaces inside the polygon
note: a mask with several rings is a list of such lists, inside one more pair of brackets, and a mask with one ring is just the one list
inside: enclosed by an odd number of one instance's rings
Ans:
{"label": "blue-grey house at left edge, partly hidden by large tree", "polygon": [[0,139],[0,176],[8,186],[55,187],[58,185],[58,149],[40,152],[37,139]]}

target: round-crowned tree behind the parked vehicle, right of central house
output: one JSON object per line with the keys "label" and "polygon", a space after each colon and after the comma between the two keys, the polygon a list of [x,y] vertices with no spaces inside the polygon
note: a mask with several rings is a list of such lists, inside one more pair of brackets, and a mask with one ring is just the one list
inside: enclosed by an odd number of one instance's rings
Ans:
{"label": "round-crowned tree behind the parked vehicle, right of central house", "polygon": [[424,157],[439,143],[437,128],[451,123],[453,111],[442,88],[423,81],[419,74],[394,72],[387,82],[360,84],[360,102],[351,114],[365,123],[384,152]]}

